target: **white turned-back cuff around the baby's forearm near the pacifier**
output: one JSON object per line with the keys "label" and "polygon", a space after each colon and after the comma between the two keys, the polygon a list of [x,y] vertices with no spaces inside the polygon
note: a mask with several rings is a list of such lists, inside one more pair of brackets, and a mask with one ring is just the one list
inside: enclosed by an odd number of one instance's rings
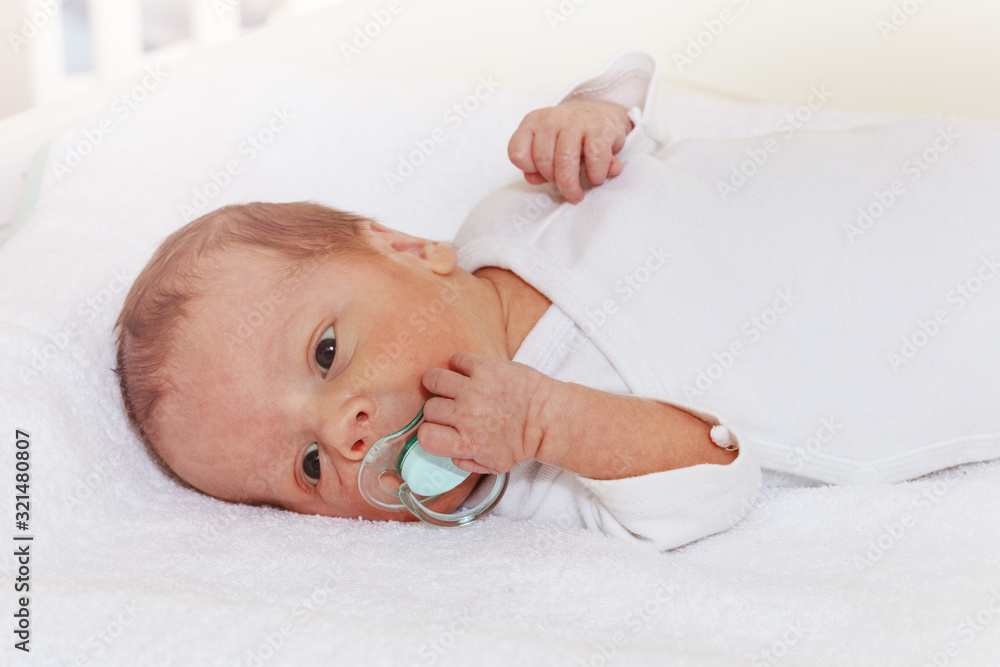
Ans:
{"label": "white turned-back cuff around the baby's forearm near the pacifier", "polygon": [[[650,398],[723,425],[730,442],[738,434],[711,412],[661,396]],[[718,432],[717,432],[718,433]],[[760,466],[746,447],[728,465],[703,463],[624,479],[575,476],[582,487],[577,509],[584,524],[606,535],[637,539],[657,550],[673,549],[732,527],[753,507]]]}

